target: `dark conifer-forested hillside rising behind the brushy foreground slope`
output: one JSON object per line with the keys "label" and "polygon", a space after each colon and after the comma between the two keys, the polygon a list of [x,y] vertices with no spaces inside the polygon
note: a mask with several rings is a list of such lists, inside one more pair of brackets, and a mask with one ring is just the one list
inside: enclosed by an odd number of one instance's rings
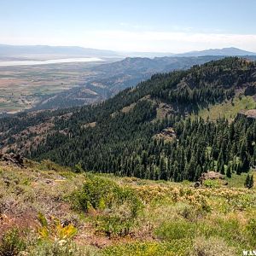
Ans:
{"label": "dark conifer-forested hillside rising behind the brushy foreground slope", "polygon": [[2,148],[119,176],[231,177],[256,164],[255,114],[240,113],[255,108],[255,95],[255,62],[210,61],[155,74],[96,106],[1,119]]}

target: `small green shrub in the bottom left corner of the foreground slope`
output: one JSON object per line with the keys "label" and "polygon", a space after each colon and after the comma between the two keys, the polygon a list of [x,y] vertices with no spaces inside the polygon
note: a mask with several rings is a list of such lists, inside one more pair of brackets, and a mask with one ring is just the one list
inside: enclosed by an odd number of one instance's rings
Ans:
{"label": "small green shrub in the bottom left corner of the foreground slope", "polygon": [[20,238],[18,229],[8,230],[0,243],[0,256],[19,255],[25,247],[26,243]]}

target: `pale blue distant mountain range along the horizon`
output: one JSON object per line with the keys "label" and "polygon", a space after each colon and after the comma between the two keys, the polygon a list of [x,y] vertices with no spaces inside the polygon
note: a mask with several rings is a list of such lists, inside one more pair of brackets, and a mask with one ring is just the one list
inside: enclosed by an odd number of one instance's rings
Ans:
{"label": "pale blue distant mountain range along the horizon", "polygon": [[256,55],[256,53],[235,47],[223,49],[205,49],[201,51],[189,51],[182,54],[173,54],[168,52],[118,52],[107,49],[90,49],[79,46],[48,46],[48,45],[8,45],[0,44],[0,56],[17,57],[26,56],[35,57],[39,55],[60,55],[63,56],[87,56],[87,57],[164,57],[164,56],[182,56],[197,57],[205,55],[221,55],[221,56],[241,56]]}

